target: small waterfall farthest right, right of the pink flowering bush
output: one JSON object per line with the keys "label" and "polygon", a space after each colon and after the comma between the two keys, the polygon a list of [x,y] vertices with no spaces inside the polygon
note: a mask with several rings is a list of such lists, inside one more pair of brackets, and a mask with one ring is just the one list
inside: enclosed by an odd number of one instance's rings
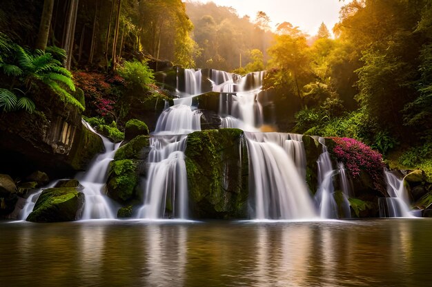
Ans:
{"label": "small waterfall farthest right, right of the pink flowering bush", "polygon": [[390,171],[384,171],[384,174],[390,198],[378,200],[380,217],[413,217],[409,211],[409,198],[404,180],[400,180]]}

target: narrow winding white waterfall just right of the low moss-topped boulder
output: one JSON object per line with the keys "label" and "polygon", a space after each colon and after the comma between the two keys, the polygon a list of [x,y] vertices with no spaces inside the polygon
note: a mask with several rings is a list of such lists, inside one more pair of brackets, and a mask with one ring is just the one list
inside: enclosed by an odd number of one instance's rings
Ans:
{"label": "narrow winding white waterfall just right of the low moss-topped boulder", "polygon": [[103,193],[108,178],[109,164],[114,159],[120,143],[115,144],[104,136],[101,136],[101,138],[104,141],[105,152],[100,153],[95,158],[87,171],[78,173],[75,176],[84,187],[83,193],[86,196],[86,204],[81,217],[83,220],[113,219],[116,217],[114,204]]}

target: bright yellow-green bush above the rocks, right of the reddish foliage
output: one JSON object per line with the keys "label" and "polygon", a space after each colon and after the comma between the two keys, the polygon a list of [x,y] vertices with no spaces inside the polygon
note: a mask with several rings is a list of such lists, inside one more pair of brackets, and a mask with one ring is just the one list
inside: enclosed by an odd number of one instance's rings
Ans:
{"label": "bright yellow-green bush above the rocks, right of the reddish foliage", "polygon": [[118,73],[124,78],[126,85],[141,87],[144,90],[147,89],[147,85],[155,83],[153,70],[148,67],[146,62],[125,61],[124,65],[119,68]]}

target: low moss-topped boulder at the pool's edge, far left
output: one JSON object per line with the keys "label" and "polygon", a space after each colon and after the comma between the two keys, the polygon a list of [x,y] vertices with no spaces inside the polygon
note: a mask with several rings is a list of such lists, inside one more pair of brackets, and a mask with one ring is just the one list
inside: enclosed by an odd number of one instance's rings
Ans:
{"label": "low moss-topped boulder at the pool's edge, far left", "polygon": [[76,188],[45,189],[28,215],[30,222],[63,222],[79,220],[84,209],[84,193]]}

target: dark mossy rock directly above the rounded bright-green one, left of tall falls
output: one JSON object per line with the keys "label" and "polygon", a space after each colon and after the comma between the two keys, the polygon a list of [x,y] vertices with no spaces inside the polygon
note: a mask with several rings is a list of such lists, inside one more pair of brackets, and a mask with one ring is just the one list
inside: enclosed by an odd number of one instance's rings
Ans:
{"label": "dark mossy rock directly above the rounded bright-green one, left of tall falls", "polygon": [[114,160],[146,160],[150,152],[150,136],[137,136],[115,153]]}

